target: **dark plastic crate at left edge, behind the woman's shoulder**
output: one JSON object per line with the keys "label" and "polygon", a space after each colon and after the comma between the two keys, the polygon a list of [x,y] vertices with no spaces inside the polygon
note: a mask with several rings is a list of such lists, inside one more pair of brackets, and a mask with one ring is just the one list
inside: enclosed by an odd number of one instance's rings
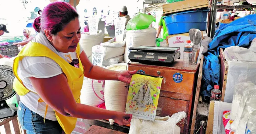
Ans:
{"label": "dark plastic crate at left edge, behind the woman's shoulder", "polygon": [[19,49],[17,45],[1,45],[0,53],[8,57],[14,57],[18,55]]}

